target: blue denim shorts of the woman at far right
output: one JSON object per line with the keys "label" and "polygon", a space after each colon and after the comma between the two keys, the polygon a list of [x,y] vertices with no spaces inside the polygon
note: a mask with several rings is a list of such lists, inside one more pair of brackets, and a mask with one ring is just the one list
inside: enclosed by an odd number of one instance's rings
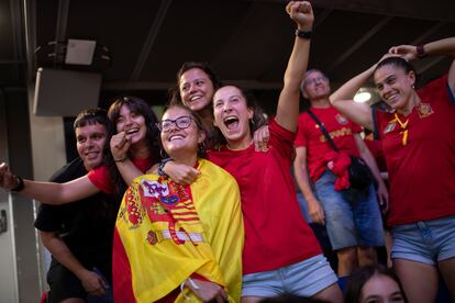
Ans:
{"label": "blue denim shorts of the woman at far right", "polygon": [[393,226],[392,259],[435,265],[455,257],[455,216]]}

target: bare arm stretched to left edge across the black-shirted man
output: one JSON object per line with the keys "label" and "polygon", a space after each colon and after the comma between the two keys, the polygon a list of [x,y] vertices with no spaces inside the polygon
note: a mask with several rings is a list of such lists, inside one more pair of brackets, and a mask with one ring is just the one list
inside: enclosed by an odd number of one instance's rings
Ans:
{"label": "bare arm stretched to left edge across the black-shirted man", "polygon": [[[21,182],[23,182],[23,187]],[[87,175],[66,183],[22,180],[14,176],[4,162],[0,164],[0,188],[16,189],[21,194],[45,204],[70,203],[99,192]]]}

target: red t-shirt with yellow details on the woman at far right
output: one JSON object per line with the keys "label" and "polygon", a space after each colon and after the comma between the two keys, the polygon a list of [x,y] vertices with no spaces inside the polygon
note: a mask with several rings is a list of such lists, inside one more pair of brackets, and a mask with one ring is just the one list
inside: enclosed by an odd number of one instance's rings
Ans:
{"label": "red t-shirt with yellow details on the woman at far right", "polygon": [[455,104],[447,76],[418,91],[408,116],[408,143],[392,113],[375,114],[389,171],[388,224],[409,224],[455,214]]}

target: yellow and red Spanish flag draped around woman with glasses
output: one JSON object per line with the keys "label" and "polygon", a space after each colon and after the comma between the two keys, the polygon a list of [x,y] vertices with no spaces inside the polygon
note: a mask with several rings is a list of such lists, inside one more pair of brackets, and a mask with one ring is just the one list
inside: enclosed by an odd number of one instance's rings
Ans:
{"label": "yellow and red Spanish flag draped around woman with glasses", "polygon": [[[191,274],[223,287],[230,302],[240,301],[244,232],[238,187],[208,160],[200,159],[198,169],[201,175],[190,186],[144,175],[126,190],[114,233],[115,302],[155,302]],[[180,293],[176,302],[184,301]]]}

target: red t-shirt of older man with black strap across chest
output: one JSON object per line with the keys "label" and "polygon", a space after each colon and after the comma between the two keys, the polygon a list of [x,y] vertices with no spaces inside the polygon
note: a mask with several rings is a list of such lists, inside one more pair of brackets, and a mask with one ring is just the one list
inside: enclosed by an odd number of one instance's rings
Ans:
{"label": "red t-shirt of older man with black strap across chest", "polygon": [[[359,156],[353,135],[362,132],[362,127],[358,124],[348,121],[333,106],[325,109],[311,108],[311,111],[325,126],[340,150],[352,156]],[[324,156],[333,152],[333,148],[308,112],[299,116],[299,130],[295,145],[296,147],[302,146],[307,148],[307,162],[310,170],[310,178],[315,182],[328,169]]]}

